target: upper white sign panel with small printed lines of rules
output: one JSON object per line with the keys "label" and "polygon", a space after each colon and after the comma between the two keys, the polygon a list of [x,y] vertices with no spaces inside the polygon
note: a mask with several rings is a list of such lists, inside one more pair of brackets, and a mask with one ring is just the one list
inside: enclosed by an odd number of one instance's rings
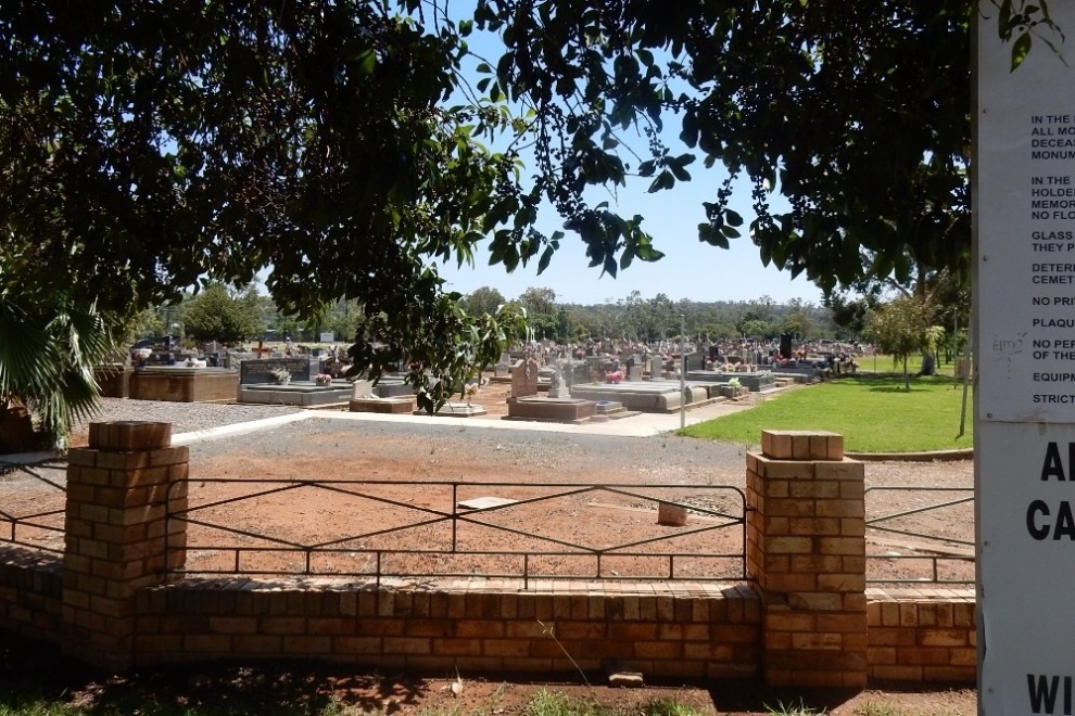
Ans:
{"label": "upper white sign panel with small printed lines of rules", "polygon": [[[1050,3],[1068,35],[1075,8]],[[979,393],[989,420],[1075,422],[1075,73],[1044,42],[1011,72],[978,23]]]}

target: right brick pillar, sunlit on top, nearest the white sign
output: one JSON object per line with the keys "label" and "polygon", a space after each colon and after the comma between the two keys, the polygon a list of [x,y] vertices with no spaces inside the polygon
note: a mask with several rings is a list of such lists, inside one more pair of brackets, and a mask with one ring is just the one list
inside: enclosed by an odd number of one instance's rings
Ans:
{"label": "right brick pillar, sunlit on top, nearest the white sign", "polygon": [[861,462],[834,433],[763,431],[747,455],[747,574],[762,602],[767,683],[864,687]]}

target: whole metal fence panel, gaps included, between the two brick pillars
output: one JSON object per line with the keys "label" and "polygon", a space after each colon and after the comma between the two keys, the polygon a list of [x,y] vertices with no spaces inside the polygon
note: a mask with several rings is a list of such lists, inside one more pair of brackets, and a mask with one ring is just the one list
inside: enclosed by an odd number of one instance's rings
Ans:
{"label": "whole metal fence panel, gaps included, between the two brick pillars", "polygon": [[[177,500],[188,491],[189,506]],[[299,493],[316,506],[311,509],[334,510],[336,522],[342,511],[356,524],[337,534],[309,515],[257,524],[260,503],[298,509]],[[467,507],[497,494],[502,501]],[[205,501],[193,504],[197,495]],[[685,510],[686,524],[658,525],[662,506]],[[175,540],[169,550],[186,551],[178,571],[190,575],[330,575],[378,584],[482,576],[518,578],[524,587],[533,579],[739,580],[745,511],[734,486],[191,478],[172,487],[166,507],[166,520],[186,523],[186,536],[176,539],[173,525],[165,534]],[[554,514],[562,529],[546,524]],[[598,545],[574,534],[586,533],[579,526],[598,515],[609,533],[627,534]]]}

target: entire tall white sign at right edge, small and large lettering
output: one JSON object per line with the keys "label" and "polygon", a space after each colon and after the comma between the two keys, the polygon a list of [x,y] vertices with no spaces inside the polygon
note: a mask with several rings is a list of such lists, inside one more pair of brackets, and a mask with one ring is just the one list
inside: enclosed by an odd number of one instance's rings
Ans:
{"label": "entire tall white sign at right edge, small and large lettering", "polygon": [[[978,700],[1075,714],[1075,69],[977,27]],[[1075,3],[1050,2],[1075,37]],[[1044,30],[1048,33],[1049,30]]]}

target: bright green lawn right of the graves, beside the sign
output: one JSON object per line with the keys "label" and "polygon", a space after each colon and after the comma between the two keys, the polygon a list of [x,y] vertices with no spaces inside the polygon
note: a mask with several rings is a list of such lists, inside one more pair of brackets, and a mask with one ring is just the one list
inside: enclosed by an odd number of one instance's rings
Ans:
{"label": "bright green lawn right of the graves, beside the sign", "polygon": [[970,398],[966,430],[959,439],[962,389],[953,389],[951,378],[912,378],[907,392],[902,375],[893,374],[843,378],[791,391],[680,434],[758,445],[762,430],[823,430],[843,435],[844,449],[852,452],[969,448]]}

